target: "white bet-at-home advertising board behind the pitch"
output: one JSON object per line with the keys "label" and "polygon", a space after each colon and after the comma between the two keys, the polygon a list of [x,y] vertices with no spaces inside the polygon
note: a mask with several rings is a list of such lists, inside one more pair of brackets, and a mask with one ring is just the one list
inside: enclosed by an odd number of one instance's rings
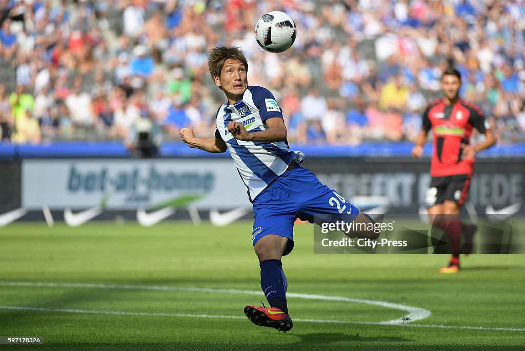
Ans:
{"label": "white bet-at-home advertising board behind the pitch", "polygon": [[229,159],[25,160],[22,205],[27,209],[197,209],[250,206]]}

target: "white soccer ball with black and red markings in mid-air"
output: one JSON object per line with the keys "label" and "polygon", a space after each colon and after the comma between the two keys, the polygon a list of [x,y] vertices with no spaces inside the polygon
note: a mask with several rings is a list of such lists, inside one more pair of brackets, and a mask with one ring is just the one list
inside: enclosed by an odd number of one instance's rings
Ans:
{"label": "white soccer ball with black and red markings in mid-air", "polygon": [[282,53],[288,50],[295,42],[296,34],[293,19],[280,11],[262,15],[255,25],[255,40],[269,53]]}

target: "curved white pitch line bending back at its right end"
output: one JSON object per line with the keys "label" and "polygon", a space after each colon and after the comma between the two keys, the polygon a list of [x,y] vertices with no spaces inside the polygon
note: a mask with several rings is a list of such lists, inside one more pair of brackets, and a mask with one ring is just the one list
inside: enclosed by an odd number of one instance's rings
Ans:
{"label": "curved white pitch line bending back at its right end", "polygon": [[[184,291],[184,292],[199,292],[199,293],[227,293],[227,294],[243,294],[243,295],[261,295],[260,291],[252,290],[237,290],[237,289],[211,289],[200,287],[177,287],[177,286],[149,286],[149,285],[114,285],[114,284],[78,284],[78,283],[31,283],[31,282],[0,282],[4,286],[44,286],[44,287],[73,287],[73,288],[101,288],[101,289],[124,289],[124,290],[158,290],[158,291]],[[295,294],[287,293],[287,297],[304,298],[309,300],[325,300],[325,301],[342,301],[351,303],[360,303],[375,305],[380,307],[399,309],[408,312],[407,315],[399,319],[391,319],[390,321],[377,322],[382,325],[385,324],[401,324],[403,321],[421,321],[421,319],[430,316],[428,309],[394,304],[386,301],[364,300],[360,298],[350,298],[343,296],[325,296],[325,295],[310,295],[310,294]],[[405,323],[403,323],[405,324]]]}

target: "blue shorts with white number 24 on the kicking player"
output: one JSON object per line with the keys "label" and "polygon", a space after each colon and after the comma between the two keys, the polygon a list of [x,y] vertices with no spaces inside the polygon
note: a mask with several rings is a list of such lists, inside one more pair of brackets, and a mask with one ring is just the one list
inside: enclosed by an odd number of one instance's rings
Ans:
{"label": "blue shorts with white number 24 on the kicking player", "polygon": [[344,215],[353,221],[359,209],[335,190],[300,166],[281,174],[253,202],[255,222],[251,239],[255,244],[265,235],[288,238],[284,255],[293,249],[293,223],[296,219],[319,224],[323,215]]}

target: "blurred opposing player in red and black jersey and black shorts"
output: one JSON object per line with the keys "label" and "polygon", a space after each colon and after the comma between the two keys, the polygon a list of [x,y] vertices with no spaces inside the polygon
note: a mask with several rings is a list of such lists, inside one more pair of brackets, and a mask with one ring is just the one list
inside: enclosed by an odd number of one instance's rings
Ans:
{"label": "blurred opposing player in red and black jersey and black shorts", "polygon": [[[452,249],[450,262],[439,270],[440,273],[459,271],[462,232],[467,243],[465,253],[471,250],[471,239],[476,226],[462,224],[458,214],[467,198],[476,153],[496,143],[496,138],[479,108],[459,98],[460,86],[459,71],[454,67],[447,68],[441,80],[444,97],[428,104],[423,113],[423,130],[419,133],[412,150],[413,157],[423,156],[423,146],[428,132],[432,129],[432,181],[425,202],[430,223],[446,231]],[[470,135],[474,128],[484,133],[486,138],[479,144],[470,145]]]}

